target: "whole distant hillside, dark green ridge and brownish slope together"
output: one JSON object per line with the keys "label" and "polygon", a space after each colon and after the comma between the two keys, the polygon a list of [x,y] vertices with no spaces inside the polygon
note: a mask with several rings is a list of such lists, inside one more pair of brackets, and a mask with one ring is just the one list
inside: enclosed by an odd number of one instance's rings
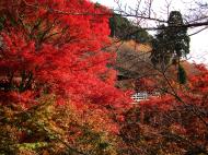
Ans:
{"label": "whole distant hillside, dark green ridge and brownish slope together", "polygon": [[[128,19],[113,15],[109,19],[111,37],[114,44],[111,49],[116,51],[117,58],[114,69],[118,71],[118,81],[136,80],[161,74],[160,67],[154,67],[150,59],[153,37],[145,29],[136,26]],[[137,32],[137,33],[135,33]],[[197,69],[187,61],[181,62],[187,75],[197,73]],[[177,65],[167,65],[166,74],[177,81]]]}

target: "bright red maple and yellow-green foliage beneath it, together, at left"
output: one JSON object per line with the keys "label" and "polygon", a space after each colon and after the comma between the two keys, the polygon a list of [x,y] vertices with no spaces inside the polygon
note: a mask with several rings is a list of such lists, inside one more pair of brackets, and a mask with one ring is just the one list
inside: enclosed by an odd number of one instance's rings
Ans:
{"label": "bright red maple and yellow-green foliage beneath it, together, at left", "polygon": [[111,12],[86,0],[3,0],[0,12],[0,153],[107,153],[130,102],[107,67]]}

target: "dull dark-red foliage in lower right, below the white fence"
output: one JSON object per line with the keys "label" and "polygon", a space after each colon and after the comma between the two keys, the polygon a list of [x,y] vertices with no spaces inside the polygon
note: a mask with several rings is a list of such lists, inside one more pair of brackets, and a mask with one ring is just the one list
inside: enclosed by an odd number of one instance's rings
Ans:
{"label": "dull dark-red foliage in lower right, below the white fence", "polygon": [[204,65],[195,68],[198,72],[188,78],[186,85],[171,81],[166,92],[140,102],[126,114],[122,136],[127,151],[208,153],[208,70]]}

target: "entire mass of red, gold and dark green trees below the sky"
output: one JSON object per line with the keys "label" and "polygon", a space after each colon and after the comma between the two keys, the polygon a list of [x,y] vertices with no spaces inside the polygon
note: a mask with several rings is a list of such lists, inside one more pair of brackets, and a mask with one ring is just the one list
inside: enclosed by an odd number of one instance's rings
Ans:
{"label": "entire mass of red, gold and dark green trees below the sky", "polygon": [[[88,0],[1,0],[0,155],[207,155],[208,70],[184,62],[184,25],[173,11],[151,36]],[[128,40],[151,46],[149,74],[122,88]]]}

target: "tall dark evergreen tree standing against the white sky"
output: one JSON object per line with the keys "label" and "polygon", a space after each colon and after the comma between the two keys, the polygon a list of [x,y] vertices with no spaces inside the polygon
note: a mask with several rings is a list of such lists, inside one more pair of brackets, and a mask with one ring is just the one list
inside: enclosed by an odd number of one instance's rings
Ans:
{"label": "tall dark evergreen tree standing against the white sky", "polygon": [[172,11],[167,26],[161,25],[152,41],[151,61],[154,65],[165,67],[175,60],[180,63],[182,57],[189,53],[189,37],[181,12]]}

